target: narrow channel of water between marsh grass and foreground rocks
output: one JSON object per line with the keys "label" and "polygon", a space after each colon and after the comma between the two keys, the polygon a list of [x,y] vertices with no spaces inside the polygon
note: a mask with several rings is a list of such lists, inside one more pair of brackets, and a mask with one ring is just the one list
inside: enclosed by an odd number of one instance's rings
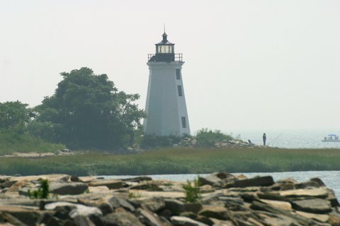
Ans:
{"label": "narrow channel of water between marsh grass and foreground rocks", "polygon": [[[237,173],[236,173],[237,174]],[[312,177],[319,177],[322,179],[324,184],[329,189],[333,189],[336,197],[340,198],[340,171],[303,171],[303,172],[268,172],[268,173],[243,173],[246,177],[255,177],[255,176],[266,176],[271,175],[275,181],[279,179],[285,178],[293,178],[297,180],[297,182],[305,182]],[[200,174],[201,176],[207,174]],[[152,177],[152,179],[168,179],[171,181],[179,181],[185,182],[186,180],[193,180],[197,177],[197,174],[164,174],[164,175],[147,175],[148,177]],[[136,176],[104,176],[110,179],[119,179],[119,178],[127,178],[127,177],[136,177]]]}

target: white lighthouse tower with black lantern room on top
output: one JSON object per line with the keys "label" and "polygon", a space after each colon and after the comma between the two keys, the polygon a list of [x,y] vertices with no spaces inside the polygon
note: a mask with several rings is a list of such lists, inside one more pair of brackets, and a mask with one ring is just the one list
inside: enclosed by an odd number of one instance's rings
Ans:
{"label": "white lighthouse tower with black lantern room on top", "polygon": [[149,54],[149,85],[147,88],[147,118],[145,133],[156,136],[190,134],[186,96],[182,80],[182,54],[175,54],[167,40],[156,44],[156,54]]}

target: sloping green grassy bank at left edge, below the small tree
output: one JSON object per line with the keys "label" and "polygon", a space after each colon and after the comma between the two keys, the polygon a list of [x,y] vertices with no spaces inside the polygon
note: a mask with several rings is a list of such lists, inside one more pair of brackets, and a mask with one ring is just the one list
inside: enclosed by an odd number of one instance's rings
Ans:
{"label": "sloping green grassy bank at left edge, below the small tree", "polygon": [[62,148],[65,148],[65,145],[48,143],[43,141],[41,138],[27,134],[14,133],[9,130],[0,130],[0,155],[11,154],[14,152],[47,153],[54,152]]}

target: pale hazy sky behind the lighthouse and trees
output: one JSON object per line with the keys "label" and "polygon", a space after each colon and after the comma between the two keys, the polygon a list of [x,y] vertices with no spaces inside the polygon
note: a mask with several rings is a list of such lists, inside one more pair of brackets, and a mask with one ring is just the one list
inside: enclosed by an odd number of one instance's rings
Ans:
{"label": "pale hazy sky behind the lighthouse and trees", "polygon": [[0,0],[0,102],[87,66],[145,108],[163,23],[183,53],[191,131],[340,128],[340,1]]}

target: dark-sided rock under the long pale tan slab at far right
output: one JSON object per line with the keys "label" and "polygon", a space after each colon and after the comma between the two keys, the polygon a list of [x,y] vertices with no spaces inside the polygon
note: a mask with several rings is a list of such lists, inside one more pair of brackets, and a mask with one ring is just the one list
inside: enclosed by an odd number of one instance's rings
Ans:
{"label": "dark-sided rock under the long pale tan slab at far right", "polygon": [[331,212],[331,203],[321,198],[293,201],[292,206],[295,210],[300,210],[309,213]]}

